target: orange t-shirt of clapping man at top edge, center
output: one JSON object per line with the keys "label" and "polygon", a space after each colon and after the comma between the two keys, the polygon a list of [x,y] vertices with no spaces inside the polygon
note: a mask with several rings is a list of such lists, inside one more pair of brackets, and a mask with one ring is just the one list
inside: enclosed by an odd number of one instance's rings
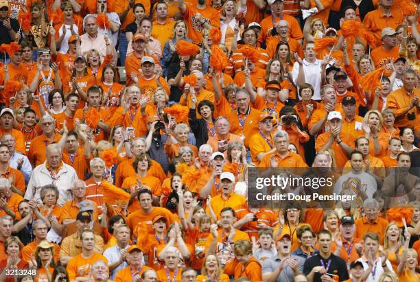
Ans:
{"label": "orange t-shirt of clapping man at top edge, center", "polygon": [[200,21],[196,18],[196,14],[200,13],[202,20],[206,21],[214,28],[220,28],[220,14],[211,6],[206,6],[205,9],[198,9],[195,5],[185,4],[184,19],[187,23],[187,30],[189,39],[194,43],[202,43],[203,27]]}

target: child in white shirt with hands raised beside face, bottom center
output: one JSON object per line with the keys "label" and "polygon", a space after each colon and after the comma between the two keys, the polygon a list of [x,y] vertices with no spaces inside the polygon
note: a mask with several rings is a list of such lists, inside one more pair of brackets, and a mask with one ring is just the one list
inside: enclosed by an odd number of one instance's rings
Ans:
{"label": "child in white shirt with hands raised beside face, bottom center", "polygon": [[275,241],[272,238],[272,230],[261,229],[258,231],[258,241],[253,237],[253,255],[260,263],[266,259],[275,257],[277,250]]}

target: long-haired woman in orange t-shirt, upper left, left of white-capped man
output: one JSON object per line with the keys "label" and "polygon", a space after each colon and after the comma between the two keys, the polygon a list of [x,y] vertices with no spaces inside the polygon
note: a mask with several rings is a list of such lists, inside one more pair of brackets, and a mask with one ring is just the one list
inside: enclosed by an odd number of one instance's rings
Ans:
{"label": "long-haired woman in orange t-shirt, upper left, left of white-capped man", "polygon": [[121,92],[124,90],[124,85],[116,82],[117,76],[115,74],[117,74],[117,70],[112,65],[104,66],[99,84],[104,89],[102,105],[108,107],[110,112],[115,111],[121,105]]}

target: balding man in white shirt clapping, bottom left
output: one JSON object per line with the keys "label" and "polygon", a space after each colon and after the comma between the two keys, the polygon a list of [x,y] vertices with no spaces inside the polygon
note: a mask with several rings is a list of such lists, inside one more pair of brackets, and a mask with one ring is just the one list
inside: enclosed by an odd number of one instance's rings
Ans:
{"label": "balding man in white shirt clapping, bottom left", "polygon": [[130,228],[126,225],[119,226],[114,230],[113,235],[115,239],[117,239],[117,244],[107,248],[104,252],[104,256],[108,259],[110,280],[115,281],[115,275],[128,266],[126,254],[128,253],[128,243],[130,243]]}

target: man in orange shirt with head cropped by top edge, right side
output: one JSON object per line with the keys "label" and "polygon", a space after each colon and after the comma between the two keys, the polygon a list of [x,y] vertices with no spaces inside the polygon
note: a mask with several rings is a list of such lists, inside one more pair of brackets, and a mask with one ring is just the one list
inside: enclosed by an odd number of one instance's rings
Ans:
{"label": "man in orange shirt with head cropped by top edge, right side", "polygon": [[363,24],[380,39],[385,28],[397,28],[404,20],[401,11],[393,10],[394,0],[379,0],[379,9],[368,12],[364,16]]}

